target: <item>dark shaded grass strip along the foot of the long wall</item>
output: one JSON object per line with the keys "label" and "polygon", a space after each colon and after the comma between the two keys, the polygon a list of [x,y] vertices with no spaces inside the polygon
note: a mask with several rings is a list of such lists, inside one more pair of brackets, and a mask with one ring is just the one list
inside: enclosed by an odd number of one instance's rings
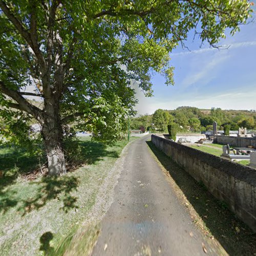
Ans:
{"label": "dark shaded grass strip along the foot of the long wall", "polygon": [[255,255],[256,234],[226,207],[215,199],[206,187],[198,183],[177,163],[166,156],[151,142],[146,142],[157,159],[169,172],[193,205],[210,233],[230,255]]}

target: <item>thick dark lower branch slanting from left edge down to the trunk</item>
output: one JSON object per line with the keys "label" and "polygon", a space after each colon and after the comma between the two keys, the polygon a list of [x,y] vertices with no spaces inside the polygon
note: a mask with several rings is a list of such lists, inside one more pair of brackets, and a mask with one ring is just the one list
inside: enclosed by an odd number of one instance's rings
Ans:
{"label": "thick dark lower branch slanting from left edge down to the trunk", "polygon": [[17,107],[19,110],[27,112],[35,117],[38,121],[41,120],[41,110],[30,104],[22,95],[19,94],[19,92],[8,89],[2,81],[0,81],[0,91],[15,100],[18,103],[15,106],[18,105]]}

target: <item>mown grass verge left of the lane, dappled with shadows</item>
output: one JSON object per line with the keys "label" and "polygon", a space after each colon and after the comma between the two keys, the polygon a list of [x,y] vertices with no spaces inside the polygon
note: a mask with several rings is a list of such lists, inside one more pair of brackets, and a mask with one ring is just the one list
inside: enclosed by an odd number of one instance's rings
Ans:
{"label": "mown grass verge left of the lane, dappled with shadows", "polygon": [[[38,159],[13,148],[1,149],[0,170],[4,177],[0,178],[0,255],[65,252],[127,140],[108,147],[92,142],[90,137],[81,138],[80,143],[83,167],[66,176],[34,181],[25,180],[21,174],[37,167]],[[94,226],[89,229],[96,232]],[[95,234],[92,237],[95,239]]]}

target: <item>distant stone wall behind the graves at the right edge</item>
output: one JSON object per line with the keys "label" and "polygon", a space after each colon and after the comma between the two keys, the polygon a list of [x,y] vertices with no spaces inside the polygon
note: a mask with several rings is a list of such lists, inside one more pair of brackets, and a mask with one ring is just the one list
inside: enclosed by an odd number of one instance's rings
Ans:
{"label": "distant stone wall behind the graves at the right edge", "polygon": [[246,137],[233,137],[233,136],[215,136],[215,143],[219,144],[229,144],[231,146],[237,147],[247,147],[253,146],[256,148],[256,137],[246,138]]}

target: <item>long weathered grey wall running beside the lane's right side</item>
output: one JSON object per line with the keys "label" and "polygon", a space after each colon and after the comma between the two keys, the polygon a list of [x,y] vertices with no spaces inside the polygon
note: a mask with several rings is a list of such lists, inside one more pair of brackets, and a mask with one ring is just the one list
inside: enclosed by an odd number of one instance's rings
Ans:
{"label": "long weathered grey wall running beside the lane's right side", "polygon": [[256,170],[155,135],[152,142],[256,232]]}

